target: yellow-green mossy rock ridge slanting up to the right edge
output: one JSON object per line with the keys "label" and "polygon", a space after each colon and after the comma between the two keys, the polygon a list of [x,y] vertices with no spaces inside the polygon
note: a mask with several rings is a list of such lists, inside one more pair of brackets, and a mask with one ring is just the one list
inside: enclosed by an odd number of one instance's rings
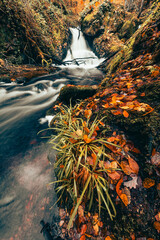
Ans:
{"label": "yellow-green mossy rock ridge slanting up to the right edge", "polygon": [[[104,69],[107,74],[113,73],[124,62],[136,58],[140,54],[151,53],[155,63],[159,62],[160,50],[157,49],[160,44],[158,35],[159,17],[160,5],[156,5],[140,28],[128,39],[123,49],[105,63]],[[154,37],[154,41],[152,37]]]}

